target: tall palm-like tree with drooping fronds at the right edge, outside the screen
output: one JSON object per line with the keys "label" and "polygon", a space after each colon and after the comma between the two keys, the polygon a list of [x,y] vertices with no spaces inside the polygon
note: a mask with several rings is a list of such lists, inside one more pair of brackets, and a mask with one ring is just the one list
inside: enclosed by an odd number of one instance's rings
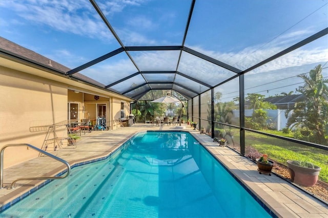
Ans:
{"label": "tall palm-like tree with drooping fronds at the right edge, outside the screen", "polygon": [[[298,118],[297,126],[306,128],[306,139],[319,144],[327,144],[327,120],[328,120],[328,79],[322,76],[321,64],[309,72],[309,75],[301,74],[298,77],[304,80],[304,84],[296,89],[306,99],[298,102],[294,107],[293,118]],[[304,131],[298,131],[304,133]]]}

